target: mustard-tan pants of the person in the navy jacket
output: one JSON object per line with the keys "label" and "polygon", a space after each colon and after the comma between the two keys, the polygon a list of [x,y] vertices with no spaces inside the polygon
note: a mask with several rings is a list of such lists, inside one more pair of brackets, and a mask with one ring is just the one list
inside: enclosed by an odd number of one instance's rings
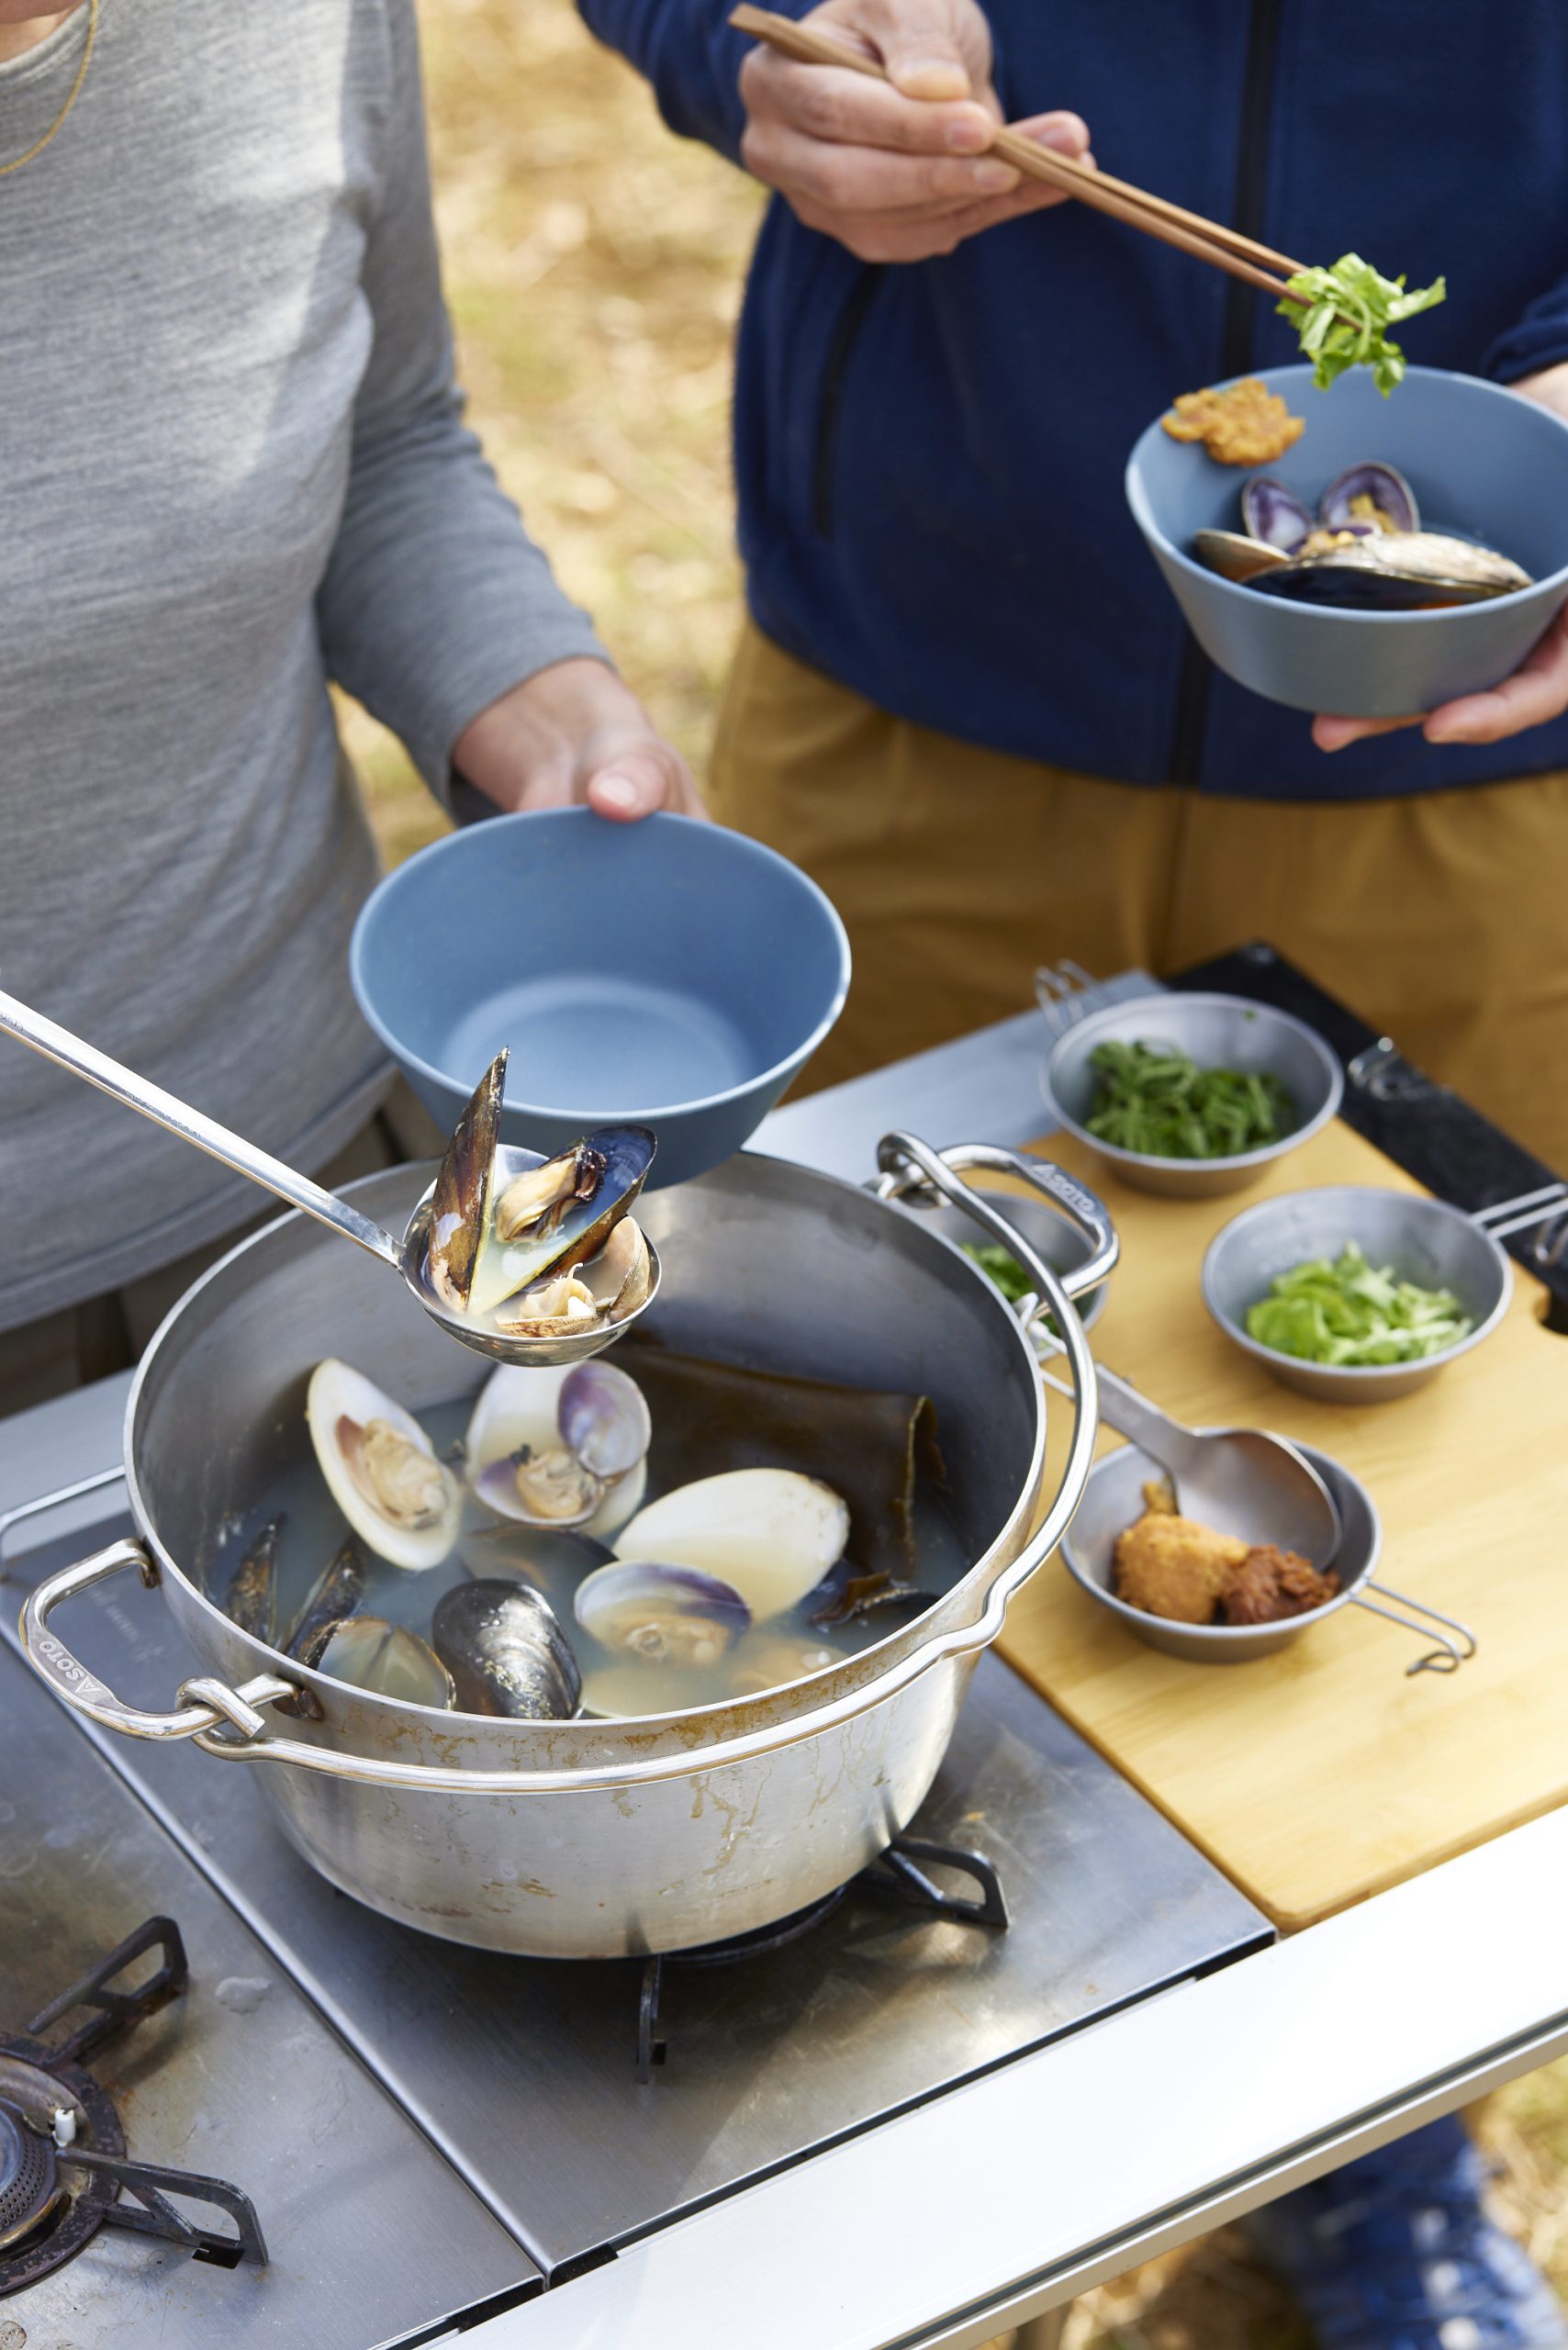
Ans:
{"label": "mustard-tan pants of the person in the navy jacket", "polygon": [[1265,938],[1568,1170],[1568,773],[1345,806],[1152,792],[910,726],[748,623],[710,804],[849,928],[811,1086],[1023,1010],[1039,964],[1164,973]]}

